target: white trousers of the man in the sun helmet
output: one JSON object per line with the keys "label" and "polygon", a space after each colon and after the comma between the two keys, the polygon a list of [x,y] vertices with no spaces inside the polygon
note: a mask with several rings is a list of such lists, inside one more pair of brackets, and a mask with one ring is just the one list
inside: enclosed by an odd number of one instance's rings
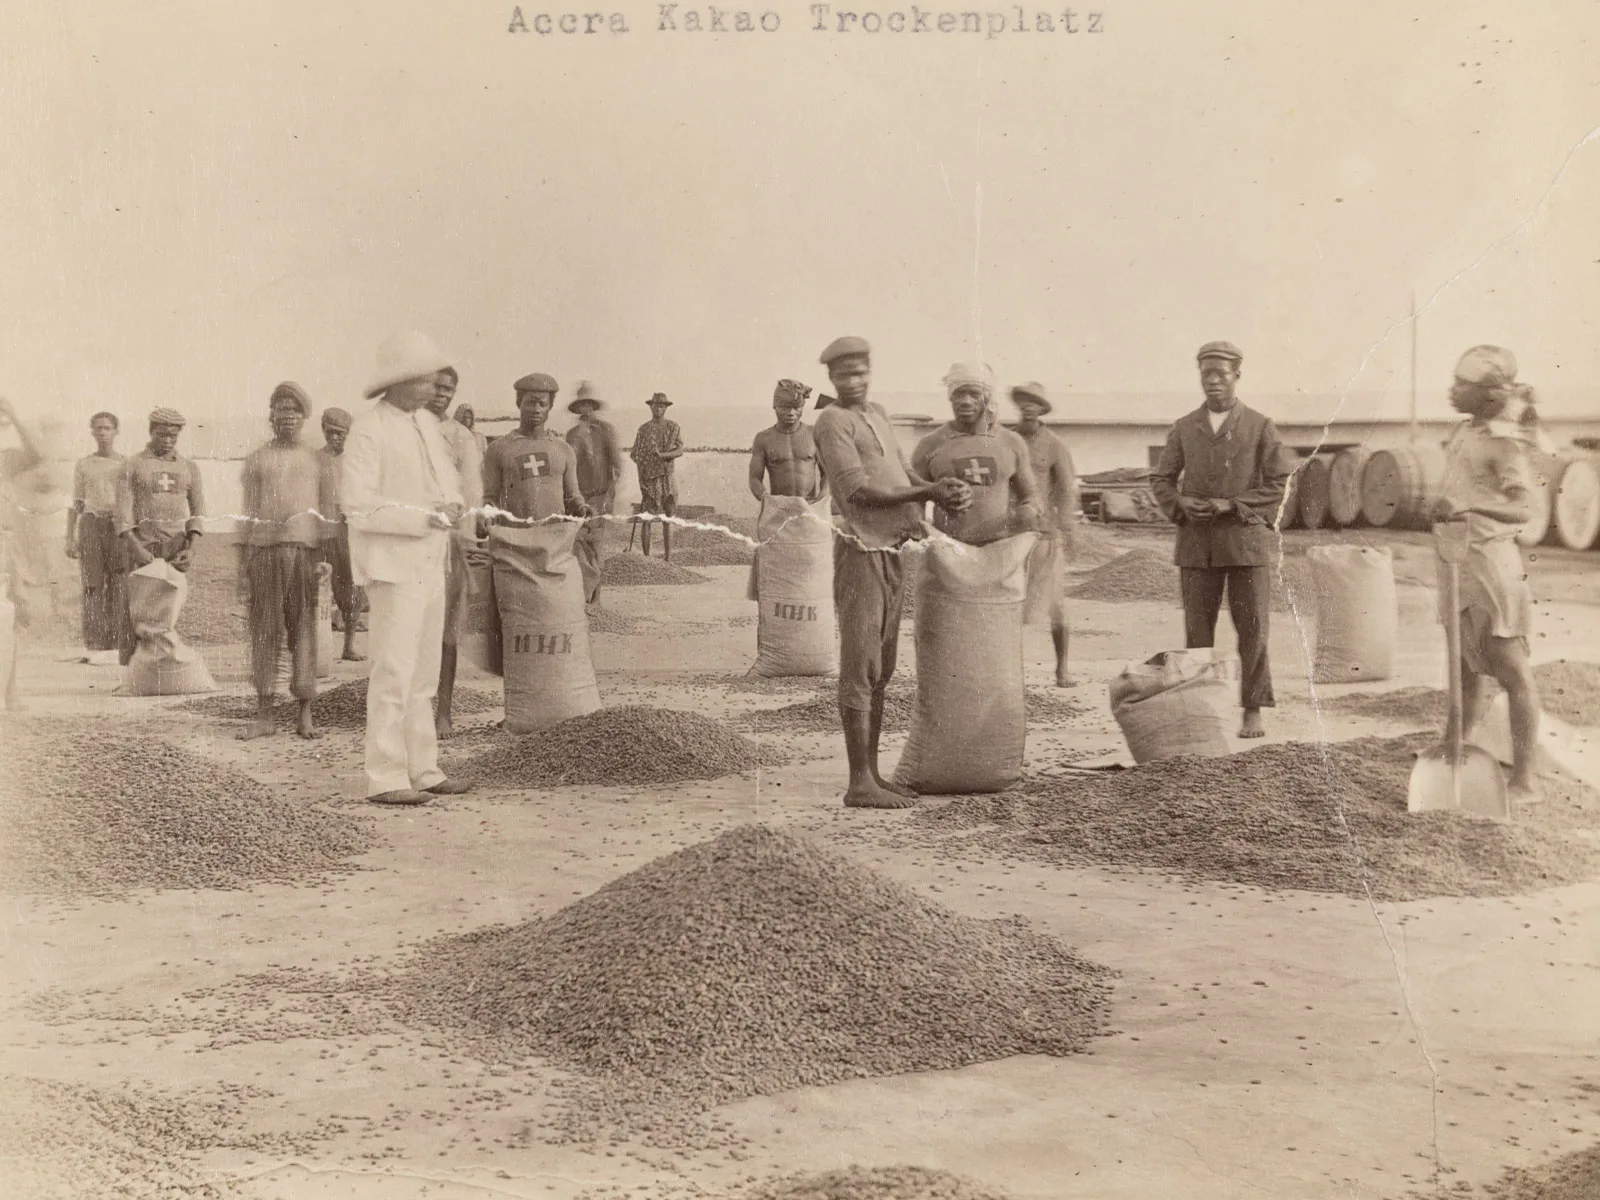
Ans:
{"label": "white trousers of the man in the sun helmet", "polygon": [[445,637],[445,573],[427,582],[366,586],[366,794],[443,781],[434,694]]}

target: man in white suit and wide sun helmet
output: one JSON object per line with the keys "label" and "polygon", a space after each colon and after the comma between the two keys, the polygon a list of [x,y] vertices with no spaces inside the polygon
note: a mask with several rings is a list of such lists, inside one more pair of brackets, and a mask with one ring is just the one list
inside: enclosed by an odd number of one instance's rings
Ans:
{"label": "man in white suit and wide sun helmet", "polygon": [[386,341],[366,386],[378,403],[344,443],[350,570],[371,602],[366,798],[376,805],[467,790],[438,770],[434,731],[450,531],[466,510],[454,458],[424,408],[448,366],[427,334]]}

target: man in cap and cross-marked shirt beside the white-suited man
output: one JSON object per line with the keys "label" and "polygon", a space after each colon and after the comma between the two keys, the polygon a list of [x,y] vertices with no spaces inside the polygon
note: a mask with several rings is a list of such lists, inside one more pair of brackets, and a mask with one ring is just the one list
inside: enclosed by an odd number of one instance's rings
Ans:
{"label": "man in cap and cross-marked shirt beside the white-suited man", "polygon": [[578,454],[550,432],[555,379],[534,371],[518,379],[517,429],[494,440],[483,459],[483,498],[522,522],[589,517],[578,486]]}

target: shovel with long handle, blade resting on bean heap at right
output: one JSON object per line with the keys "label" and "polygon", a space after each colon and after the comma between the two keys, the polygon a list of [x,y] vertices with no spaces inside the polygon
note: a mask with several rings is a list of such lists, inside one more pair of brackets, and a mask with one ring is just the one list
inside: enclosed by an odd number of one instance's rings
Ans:
{"label": "shovel with long handle, blade resting on bean heap at right", "polygon": [[1434,547],[1445,565],[1445,653],[1450,658],[1451,734],[1418,755],[1405,806],[1410,813],[1456,810],[1496,821],[1510,819],[1506,776],[1494,755],[1461,738],[1461,562],[1467,557],[1466,522],[1434,526]]}

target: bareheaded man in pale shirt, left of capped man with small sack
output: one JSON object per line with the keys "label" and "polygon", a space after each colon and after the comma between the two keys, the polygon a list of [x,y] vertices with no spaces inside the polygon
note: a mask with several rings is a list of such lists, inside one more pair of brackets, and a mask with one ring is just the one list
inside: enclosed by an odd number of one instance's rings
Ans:
{"label": "bareheaded man in pale shirt, left of capped man with small sack", "polygon": [[117,629],[128,603],[128,557],[117,539],[117,477],[128,459],[117,453],[115,413],[90,418],[94,453],[72,469],[72,506],[67,509],[67,557],[78,560],[83,582],[83,648],[90,662],[114,662]]}

